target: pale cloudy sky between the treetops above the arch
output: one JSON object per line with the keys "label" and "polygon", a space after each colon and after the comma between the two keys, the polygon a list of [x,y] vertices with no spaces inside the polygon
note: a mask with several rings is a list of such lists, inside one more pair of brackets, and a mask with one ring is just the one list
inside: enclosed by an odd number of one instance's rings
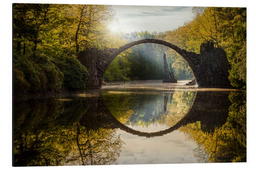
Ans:
{"label": "pale cloudy sky between the treetops above the arch", "polygon": [[164,32],[192,20],[193,7],[112,6],[116,19],[109,28],[113,32]]}

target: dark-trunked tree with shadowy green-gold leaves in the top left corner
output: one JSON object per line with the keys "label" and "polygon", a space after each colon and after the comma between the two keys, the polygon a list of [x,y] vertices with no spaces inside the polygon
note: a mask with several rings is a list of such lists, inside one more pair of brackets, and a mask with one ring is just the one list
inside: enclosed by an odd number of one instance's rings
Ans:
{"label": "dark-trunked tree with shadowy green-gold leaves in the top left corner", "polygon": [[14,42],[20,53],[20,43],[23,42],[23,54],[26,53],[26,43],[32,45],[32,51],[37,50],[37,44],[42,42],[46,33],[57,28],[60,5],[50,4],[13,4]]}

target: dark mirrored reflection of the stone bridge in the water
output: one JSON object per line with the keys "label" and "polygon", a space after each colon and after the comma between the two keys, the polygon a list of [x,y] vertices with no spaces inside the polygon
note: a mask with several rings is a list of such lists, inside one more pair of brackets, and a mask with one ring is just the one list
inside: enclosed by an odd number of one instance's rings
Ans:
{"label": "dark mirrored reflection of the stone bridge in the water", "polygon": [[[190,106],[187,114],[173,127],[158,132],[140,132],[121,124],[105,106],[102,96],[99,96],[97,106],[92,105],[93,113],[85,114],[80,119],[80,124],[88,129],[119,128],[127,133],[138,136],[155,137],[173,132],[189,123],[201,122],[201,130],[205,133],[213,133],[216,127],[222,126],[226,122],[230,102],[228,93],[197,92],[193,105]],[[89,116],[89,117],[88,117]],[[93,116],[93,118],[90,118]],[[93,120],[93,121],[92,121]]]}

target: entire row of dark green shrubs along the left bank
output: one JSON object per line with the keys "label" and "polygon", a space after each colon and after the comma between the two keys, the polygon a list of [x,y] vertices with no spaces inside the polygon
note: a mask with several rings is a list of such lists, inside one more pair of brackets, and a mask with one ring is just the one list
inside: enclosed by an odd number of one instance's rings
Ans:
{"label": "entire row of dark green shrubs along the left bank", "polygon": [[14,94],[44,94],[84,89],[88,71],[74,57],[47,57],[38,53],[14,54]]}

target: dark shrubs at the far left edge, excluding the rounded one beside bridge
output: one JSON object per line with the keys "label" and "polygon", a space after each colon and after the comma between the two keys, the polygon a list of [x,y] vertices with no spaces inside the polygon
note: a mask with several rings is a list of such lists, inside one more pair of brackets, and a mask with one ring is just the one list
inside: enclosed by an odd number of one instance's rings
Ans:
{"label": "dark shrubs at the far left edge, excluding the rounded one beside bridge", "polygon": [[63,73],[44,55],[14,55],[14,93],[58,92]]}

